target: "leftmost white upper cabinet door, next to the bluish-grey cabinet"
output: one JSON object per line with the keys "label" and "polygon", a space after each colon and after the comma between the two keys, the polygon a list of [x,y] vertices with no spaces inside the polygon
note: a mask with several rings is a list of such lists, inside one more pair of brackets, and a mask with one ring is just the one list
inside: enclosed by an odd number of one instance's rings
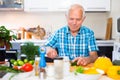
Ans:
{"label": "leftmost white upper cabinet door, next to the bluish-grey cabinet", "polygon": [[50,0],[24,0],[25,11],[49,11]]}

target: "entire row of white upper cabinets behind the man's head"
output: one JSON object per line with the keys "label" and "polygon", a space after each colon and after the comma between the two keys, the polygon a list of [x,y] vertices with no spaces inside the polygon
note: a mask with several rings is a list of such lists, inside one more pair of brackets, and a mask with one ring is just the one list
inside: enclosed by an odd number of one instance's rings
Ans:
{"label": "entire row of white upper cabinets behind the man's head", "polygon": [[85,11],[110,11],[110,0],[24,0],[24,10],[66,11],[74,3],[81,4]]}

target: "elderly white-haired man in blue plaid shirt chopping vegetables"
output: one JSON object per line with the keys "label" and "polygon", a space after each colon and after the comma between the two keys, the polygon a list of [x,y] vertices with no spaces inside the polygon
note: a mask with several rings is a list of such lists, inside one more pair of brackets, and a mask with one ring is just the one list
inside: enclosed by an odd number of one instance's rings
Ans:
{"label": "elderly white-haired man in blue plaid shirt chopping vegetables", "polygon": [[81,5],[72,5],[67,13],[67,25],[57,30],[46,42],[47,56],[69,56],[77,65],[94,62],[98,55],[98,47],[94,32],[83,26],[85,11]]}

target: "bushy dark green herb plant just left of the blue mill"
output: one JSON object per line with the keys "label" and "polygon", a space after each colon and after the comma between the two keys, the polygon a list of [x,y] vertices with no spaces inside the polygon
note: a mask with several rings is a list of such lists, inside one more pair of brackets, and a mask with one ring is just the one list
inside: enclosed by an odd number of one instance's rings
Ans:
{"label": "bushy dark green herb plant just left of the blue mill", "polygon": [[33,42],[25,42],[23,46],[21,46],[21,53],[27,56],[28,60],[34,60],[35,55],[38,54],[39,46],[35,46]]}

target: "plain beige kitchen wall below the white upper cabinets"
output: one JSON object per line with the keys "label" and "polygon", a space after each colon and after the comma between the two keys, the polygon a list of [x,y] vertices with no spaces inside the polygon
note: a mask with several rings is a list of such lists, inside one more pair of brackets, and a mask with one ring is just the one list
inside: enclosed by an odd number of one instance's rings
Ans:
{"label": "plain beige kitchen wall below the white upper cabinets", "polygon": [[[113,17],[112,37],[116,38],[116,18],[120,14],[119,2],[119,0],[112,1],[111,12],[87,12],[83,25],[91,28],[97,38],[104,38],[107,18]],[[41,25],[46,30],[54,32],[65,24],[65,12],[0,12],[0,25],[11,29]]]}

